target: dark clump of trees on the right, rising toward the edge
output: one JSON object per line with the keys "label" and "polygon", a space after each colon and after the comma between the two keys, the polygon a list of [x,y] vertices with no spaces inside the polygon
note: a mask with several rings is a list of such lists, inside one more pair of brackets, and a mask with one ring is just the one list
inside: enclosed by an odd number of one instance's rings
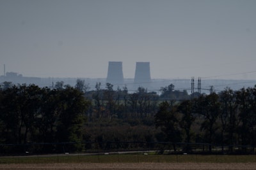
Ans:
{"label": "dark clump of trees on the right, rising toward the edge", "polygon": [[[209,143],[229,146],[256,144],[256,87],[234,91],[225,89],[216,94],[204,94],[192,100],[159,104],[156,127],[166,141],[177,143]],[[189,152],[189,148],[186,148]],[[211,152],[211,145],[209,145]]]}

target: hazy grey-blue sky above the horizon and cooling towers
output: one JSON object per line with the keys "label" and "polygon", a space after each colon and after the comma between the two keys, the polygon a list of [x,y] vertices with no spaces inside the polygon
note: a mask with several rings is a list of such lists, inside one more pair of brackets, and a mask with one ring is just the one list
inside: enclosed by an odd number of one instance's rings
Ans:
{"label": "hazy grey-blue sky above the horizon and cooling towers", "polygon": [[0,0],[0,75],[256,80],[256,1]]}

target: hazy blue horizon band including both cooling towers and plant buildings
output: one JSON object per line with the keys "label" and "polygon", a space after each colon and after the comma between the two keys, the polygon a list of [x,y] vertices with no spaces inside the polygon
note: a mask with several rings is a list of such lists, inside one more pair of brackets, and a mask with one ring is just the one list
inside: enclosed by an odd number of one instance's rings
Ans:
{"label": "hazy blue horizon band including both cooling towers and plant buildings", "polygon": [[[138,87],[144,87],[148,90],[148,92],[156,92],[157,89],[161,89],[161,87],[166,87],[167,85],[170,85],[170,83],[173,83],[175,87],[179,87],[179,89],[188,89],[189,85],[191,84],[190,79],[178,79],[179,81],[175,79],[163,79],[163,78],[152,78],[150,77],[150,62],[136,62],[134,63],[134,66],[136,64],[136,69],[134,69],[135,74],[134,77],[130,78],[124,78],[123,75],[123,67],[122,62],[109,62],[109,68],[108,68],[108,77],[106,78],[79,78],[81,80],[84,80],[84,83],[86,85],[90,85],[90,89],[93,90],[96,83],[102,84],[102,89],[104,89],[104,85],[107,82],[111,83],[113,85],[113,89],[117,89],[118,87],[122,89],[123,87],[127,87],[129,92],[133,93],[138,90]],[[0,66],[1,69],[1,66]],[[28,77],[28,76],[22,76],[22,74],[14,73],[11,71],[6,72],[5,64],[3,64],[3,71],[2,75],[0,75],[0,83],[6,82],[12,82],[13,85],[22,85],[22,84],[35,84],[38,85],[38,87],[49,87],[54,89],[54,84],[57,82],[63,81],[66,85],[70,85],[72,87],[76,86],[77,78],[40,78],[40,77]],[[236,82],[236,83],[234,83]],[[202,83],[204,83],[207,87],[210,87],[211,85],[218,86],[220,88],[227,87],[227,84],[232,84],[232,89],[234,90],[240,90],[242,87],[254,87],[255,86],[255,80],[248,80],[247,83],[244,83],[244,80],[203,80]],[[241,87],[241,84],[243,86]],[[192,91],[192,85],[191,85],[191,91]],[[201,93],[207,94],[209,90],[202,90]]]}

